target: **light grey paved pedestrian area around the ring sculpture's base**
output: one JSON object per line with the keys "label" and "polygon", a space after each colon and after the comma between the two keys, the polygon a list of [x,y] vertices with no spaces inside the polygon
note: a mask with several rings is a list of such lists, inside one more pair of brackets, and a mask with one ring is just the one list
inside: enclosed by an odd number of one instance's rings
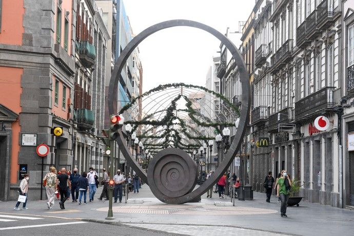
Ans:
{"label": "light grey paved pedestrian area around the ring sculpture's base", "polygon": [[[29,190],[31,191],[31,190]],[[65,204],[61,210],[58,201],[52,210],[46,201],[29,201],[27,211],[14,211],[14,202],[0,202],[0,212],[25,213],[54,218],[82,219],[107,223],[108,201],[99,201],[102,187],[96,192],[95,200],[87,205]],[[352,235],[354,211],[320,204],[301,202],[299,207],[288,207],[288,218],[281,218],[280,204],[272,197],[265,202],[265,194],[254,192],[253,201],[235,201],[235,206],[218,207],[214,202],[229,202],[219,199],[217,194],[200,203],[167,205],[154,198],[149,187],[143,185],[139,193],[130,193],[130,199],[144,200],[143,204],[113,203],[115,220],[109,223],[126,224],[132,227],[162,230],[187,235],[207,235],[214,232],[222,235]],[[221,227],[223,226],[223,227]],[[253,231],[251,230],[253,229]],[[262,231],[259,231],[262,230]],[[281,233],[281,234],[279,234]]]}

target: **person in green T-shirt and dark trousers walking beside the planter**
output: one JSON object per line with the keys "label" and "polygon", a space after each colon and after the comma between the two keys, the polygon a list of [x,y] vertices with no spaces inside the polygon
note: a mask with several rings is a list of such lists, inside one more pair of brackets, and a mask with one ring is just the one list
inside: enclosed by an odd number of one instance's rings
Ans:
{"label": "person in green T-shirt and dark trousers walking beside the planter", "polygon": [[291,188],[291,180],[289,176],[286,173],[286,170],[282,170],[281,172],[282,176],[278,180],[278,186],[277,186],[277,196],[280,198],[280,201],[282,202],[280,206],[280,216],[281,217],[287,217],[286,215],[286,207],[288,205],[288,199],[289,199],[289,190]]}

